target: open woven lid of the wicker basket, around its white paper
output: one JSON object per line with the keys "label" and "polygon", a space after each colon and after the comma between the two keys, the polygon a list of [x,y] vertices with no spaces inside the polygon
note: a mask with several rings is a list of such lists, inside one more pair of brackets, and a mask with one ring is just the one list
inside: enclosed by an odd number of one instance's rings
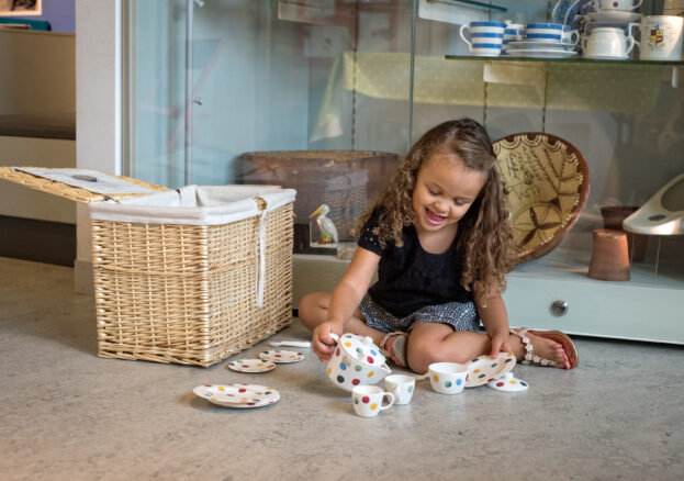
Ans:
{"label": "open woven lid of the wicker basket, around its white paper", "polygon": [[[120,179],[127,180],[128,182],[133,182],[137,186],[146,187],[153,190],[165,191],[169,190],[166,187],[155,186],[153,183],[143,182],[142,180],[132,179],[130,177],[122,176],[112,176],[119,177]],[[56,182],[51,179],[46,179],[44,177],[33,176],[29,172],[23,172],[19,170],[14,170],[12,167],[0,167],[0,179],[9,180],[11,182],[21,183],[22,186],[29,187],[31,189],[36,189],[42,192],[52,193],[53,195],[64,197],[66,199],[76,201],[76,202],[102,202],[105,199],[128,199],[132,197],[147,195],[147,194],[116,194],[116,195],[104,195],[101,193],[90,192],[86,189],[80,189],[78,187],[67,186],[66,183]]]}

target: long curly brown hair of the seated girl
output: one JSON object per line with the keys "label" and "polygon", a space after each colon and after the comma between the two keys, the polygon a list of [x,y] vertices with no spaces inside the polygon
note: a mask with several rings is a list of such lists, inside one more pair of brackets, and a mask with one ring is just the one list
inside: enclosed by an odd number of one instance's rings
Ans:
{"label": "long curly brown hair of the seated girl", "polygon": [[378,210],[378,238],[385,247],[394,240],[403,245],[402,230],[415,221],[413,190],[423,163],[434,154],[448,154],[460,158],[469,169],[486,175],[480,195],[459,221],[460,236],[456,248],[463,256],[461,282],[473,290],[475,282],[478,302],[486,305],[492,289],[503,292],[505,275],[513,270],[514,242],[508,226],[508,209],[504,187],[495,168],[496,156],[484,127],[472,119],[444,122],[413,145],[404,163],[375,203],[359,219],[357,232],[371,213]]}

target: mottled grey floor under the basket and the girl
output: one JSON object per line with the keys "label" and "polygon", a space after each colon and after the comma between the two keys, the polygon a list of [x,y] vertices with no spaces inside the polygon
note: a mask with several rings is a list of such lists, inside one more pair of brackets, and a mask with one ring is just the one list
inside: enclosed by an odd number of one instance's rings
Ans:
{"label": "mottled grey floor under the basket and the girl", "polygon": [[[295,320],[273,338],[309,334]],[[572,371],[517,366],[525,393],[422,381],[410,405],[367,420],[309,349],[256,374],[99,358],[72,270],[0,258],[0,479],[683,479],[682,347],[576,345]],[[192,393],[237,382],[281,399],[231,410]]]}

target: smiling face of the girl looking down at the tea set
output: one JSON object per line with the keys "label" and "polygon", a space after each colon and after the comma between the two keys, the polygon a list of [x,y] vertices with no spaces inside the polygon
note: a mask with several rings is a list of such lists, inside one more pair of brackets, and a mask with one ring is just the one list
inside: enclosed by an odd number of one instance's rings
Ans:
{"label": "smiling face of the girl looking down at the tea set", "polygon": [[475,201],[486,176],[466,167],[460,157],[433,154],[421,166],[413,190],[413,211],[418,233],[452,227]]}

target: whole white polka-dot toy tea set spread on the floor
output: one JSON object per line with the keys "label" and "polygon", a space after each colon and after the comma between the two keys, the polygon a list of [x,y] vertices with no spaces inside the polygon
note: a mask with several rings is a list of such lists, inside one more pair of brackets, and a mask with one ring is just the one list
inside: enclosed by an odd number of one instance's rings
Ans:
{"label": "whole white polka-dot toy tea set spread on the floor", "polygon": [[[497,391],[518,392],[527,390],[527,382],[513,377],[511,370],[516,363],[512,353],[501,353],[496,359],[480,356],[467,365],[435,362],[423,376],[392,374],[380,348],[368,336],[330,334],[337,342],[326,373],[338,388],[351,392],[356,414],[361,417],[377,416],[380,411],[393,404],[408,404],[415,391],[416,381],[429,379],[434,391],[441,394],[457,394],[464,388],[486,384]],[[306,342],[270,343],[273,346],[309,347]],[[277,363],[298,362],[304,359],[302,353],[274,349],[259,354],[259,359],[236,359],[228,368],[239,372],[267,372]],[[374,385],[384,380],[384,389]],[[262,407],[280,400],[280,393],[270,387],[239,384],[204,384],[194,388],[194,394],[224,407]]]}

